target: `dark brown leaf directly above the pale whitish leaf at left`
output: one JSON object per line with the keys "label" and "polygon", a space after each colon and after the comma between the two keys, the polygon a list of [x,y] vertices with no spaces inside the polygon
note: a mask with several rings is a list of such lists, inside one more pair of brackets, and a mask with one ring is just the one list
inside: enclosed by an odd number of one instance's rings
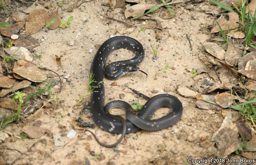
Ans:
{"label": "dark brown leaf directly above the pale whitish leaf at left", "polygon": [[[7,39],[8,41],[11,41],[12,39],[9,37],[6,37],[5,39]],[[25,47],[28,50],[32,50],[34,47],[38,47],[39,46],[39,42],[34,39],[31,36],[19,36],[18,39],[12,40],[13,45],[16,45],[17,47]]]}

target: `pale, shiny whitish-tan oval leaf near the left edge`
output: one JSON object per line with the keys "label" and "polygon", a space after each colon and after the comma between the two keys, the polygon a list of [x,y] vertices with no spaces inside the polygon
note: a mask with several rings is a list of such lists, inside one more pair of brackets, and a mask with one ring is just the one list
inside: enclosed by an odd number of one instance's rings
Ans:
{"label": "pale, shiny whitish-tan oval leaf near the left edge", "polygon": [[4,49],[6,53],[12,55],[15,58],[32,61],[33,55],[25,47],[8,47]]}

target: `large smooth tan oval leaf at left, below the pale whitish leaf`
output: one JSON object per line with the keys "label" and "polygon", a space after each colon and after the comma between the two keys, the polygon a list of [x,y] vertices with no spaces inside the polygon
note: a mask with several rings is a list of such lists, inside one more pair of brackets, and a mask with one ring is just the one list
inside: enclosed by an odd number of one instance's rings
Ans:
{"label": "large smooth tan oval leaf at left, below the pale whitish leaf", "polygon": [[12,72],[33,82],[42,82],[47,78],[47,75],[44,73],[44,71],[35,67],[28,67]]}

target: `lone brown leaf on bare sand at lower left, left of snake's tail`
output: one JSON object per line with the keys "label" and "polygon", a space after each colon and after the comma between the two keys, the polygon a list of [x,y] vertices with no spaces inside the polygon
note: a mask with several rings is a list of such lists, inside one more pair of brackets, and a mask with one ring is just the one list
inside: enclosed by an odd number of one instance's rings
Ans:
{"label": "lone brown leaf on bare sand at lower left, left of snake's tail", "polygon": [[47,130],[44,128],[31,126],[28,123],[25,123],[22,128],[22,132],[26,133],[28,135],[28,137],[33,138],[33,139],[40,138],[41,136],[44,135],[44,133],[46,131]]}

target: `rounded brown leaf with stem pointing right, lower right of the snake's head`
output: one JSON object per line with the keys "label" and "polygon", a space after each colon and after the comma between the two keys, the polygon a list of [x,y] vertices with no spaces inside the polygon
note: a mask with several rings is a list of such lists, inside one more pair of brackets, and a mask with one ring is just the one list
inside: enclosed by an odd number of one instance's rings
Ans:
{"label": "rounded brown leaf with stem pointing right, lower right of the snake's head", "polygon": [[217,97],[216,97],[216,103],[218,105],[220,105],[222,108],[228,108],[230,105],[233,104],[233,100],[239,100],[239,102],[244,102],[243,99],[235,96],[235,95],[231,95],[230,93],[220,93]]}

